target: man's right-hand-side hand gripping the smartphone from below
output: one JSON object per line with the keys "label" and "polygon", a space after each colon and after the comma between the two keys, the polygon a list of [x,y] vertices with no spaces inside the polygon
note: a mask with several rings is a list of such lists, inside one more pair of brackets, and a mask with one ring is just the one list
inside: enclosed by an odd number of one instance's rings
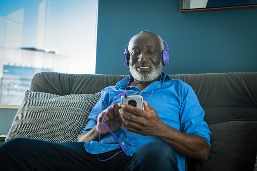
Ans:
{"label": "man's right-hand-side hand gripping the smartphone from below", "polygon": [[130,131],[144,136],[157,136],[164,126],[158,113],[150,105],[144,103],[144,109],[124,104],[119,109],[122,126]]}

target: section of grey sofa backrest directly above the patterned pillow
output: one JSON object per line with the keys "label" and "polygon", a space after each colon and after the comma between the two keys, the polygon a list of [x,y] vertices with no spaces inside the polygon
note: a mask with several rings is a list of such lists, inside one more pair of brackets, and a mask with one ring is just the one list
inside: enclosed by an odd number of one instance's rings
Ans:
{"label": "section of grey sofa backrest directly above the patterned pillow", "polygon": [[56,72],[37,73],[30,90],[57,95],[91,94],[108,86],[116,85],[124,75],[64,74]]}

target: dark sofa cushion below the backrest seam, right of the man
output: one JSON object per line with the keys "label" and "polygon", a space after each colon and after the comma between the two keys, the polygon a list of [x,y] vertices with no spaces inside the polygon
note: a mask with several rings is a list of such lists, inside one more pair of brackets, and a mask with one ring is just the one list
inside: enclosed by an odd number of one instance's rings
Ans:
{"label": "dark sofa cushion below the backrest seam, right of the man", "polygon": [[253,170],[257,151],[257,120],[209,124],[211,154],[206,161],[189,159],[188,170]]}

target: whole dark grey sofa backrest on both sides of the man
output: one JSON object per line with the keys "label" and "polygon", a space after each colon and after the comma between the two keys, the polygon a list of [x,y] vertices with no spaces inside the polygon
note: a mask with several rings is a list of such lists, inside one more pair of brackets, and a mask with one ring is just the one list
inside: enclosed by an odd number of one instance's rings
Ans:
{"label": "whole dark grey sofa backrest on both sides of the man", "polygon": [[[205,111],[208,123],[230,119],[257,119],[257,73],[211,73],[169,75],[189,84]],[[88,94],[101,91],[125,75],[36,74],[30,90],[57,95]]]}

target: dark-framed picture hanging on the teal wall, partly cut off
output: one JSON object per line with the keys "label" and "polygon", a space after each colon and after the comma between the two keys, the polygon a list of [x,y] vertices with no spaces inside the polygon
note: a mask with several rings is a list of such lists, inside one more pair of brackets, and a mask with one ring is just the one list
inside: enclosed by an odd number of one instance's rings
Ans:
{"label": "dark-framed picture hanging on the teal wall, partly cut off", "polygon": [[182,13],[257,8],[257,0],[181,0]]}

